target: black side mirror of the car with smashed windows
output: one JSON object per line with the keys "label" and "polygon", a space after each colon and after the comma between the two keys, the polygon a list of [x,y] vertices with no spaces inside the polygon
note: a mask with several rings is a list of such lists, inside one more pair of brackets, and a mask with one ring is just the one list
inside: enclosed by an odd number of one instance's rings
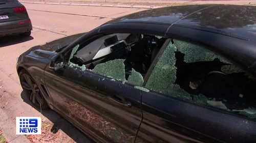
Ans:
{"label": "black side mirror of the car with smashed windows", "polygon": [[62,53],[56,54],[51,59],[49,69],[53,69],[54,71],[57,71],[59,69],[62,69],[64,67],[64,58]]}

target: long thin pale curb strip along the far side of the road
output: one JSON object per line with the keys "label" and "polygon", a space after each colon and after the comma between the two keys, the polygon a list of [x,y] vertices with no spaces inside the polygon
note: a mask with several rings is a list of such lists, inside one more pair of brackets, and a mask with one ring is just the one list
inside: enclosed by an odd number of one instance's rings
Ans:
{"label": "long thin pale curb strip along the far side of the road", "polygon": [[107,5],[107,4],[73,4],[73,3],[48,3],[48,2],[24,2],[27,4],[45,4],[45,5],[66,5],[66,6],[94,6],[94,7],[116,7],[116,8],[143,8],[143,9],[156,9],[162,8],[161,6],[129,6],[129,5]]}

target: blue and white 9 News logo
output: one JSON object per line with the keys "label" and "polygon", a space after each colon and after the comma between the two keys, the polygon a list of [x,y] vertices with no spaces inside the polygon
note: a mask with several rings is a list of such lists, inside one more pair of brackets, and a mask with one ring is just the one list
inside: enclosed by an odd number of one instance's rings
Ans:
{"label": "blue and white 9 News logo", "polygon": [[16,134],[41,134],[41,118],[16,117]]}

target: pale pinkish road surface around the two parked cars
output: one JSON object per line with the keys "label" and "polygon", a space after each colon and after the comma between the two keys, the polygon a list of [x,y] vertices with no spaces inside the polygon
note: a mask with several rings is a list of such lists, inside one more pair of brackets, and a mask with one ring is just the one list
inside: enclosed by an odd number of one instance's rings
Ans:
{"label": "pale pinkish road surface around the two parked cars", "polygon": [[[59,129],[59,133],[56,133],[58,137],[48,142],[90,142],[86,136],[55,112],[46,110],[42,111],[41,115],[40,110],[38,111],[30,105],[19,84],[15,69],[16,58],[32,46],[65,36],[88,32],[113,18],[145,9],[24,5],[33,24],[31,37],[9,36],[0,38],[0,130],[3,131],[8,142],[29,142],[24,135],[15,135],[15,117],[37,116]],[[49,134],[54,136],[52,133]]]}

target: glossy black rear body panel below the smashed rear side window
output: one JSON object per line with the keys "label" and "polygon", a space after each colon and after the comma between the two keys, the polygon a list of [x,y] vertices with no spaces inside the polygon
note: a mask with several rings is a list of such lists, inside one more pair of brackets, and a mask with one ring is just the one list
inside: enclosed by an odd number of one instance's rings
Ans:
{"label": "glossy black rear body panel below the smashed rear side window", "polygon": [[142,92],[142,109],[143,122],[138,137],[150,142],[256,140],[256,122],[231,115],[228,111],[195,105],[154,92]]}

